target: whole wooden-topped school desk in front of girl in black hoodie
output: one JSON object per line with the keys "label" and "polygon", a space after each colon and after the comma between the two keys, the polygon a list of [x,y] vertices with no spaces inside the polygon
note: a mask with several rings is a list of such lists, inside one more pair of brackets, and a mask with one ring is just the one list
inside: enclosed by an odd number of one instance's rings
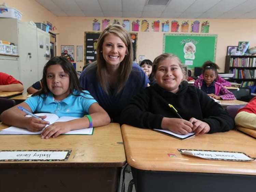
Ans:
{"label": "whole wooden-topped school desk in front of girl in black hoodie", "polygon": [[218,161],[181,155],[177,149],[240,151],[256,157],[256,140],[240,131],[179,140],[122,125],[126,159],[140,192],[255,191],[256,161]]}

